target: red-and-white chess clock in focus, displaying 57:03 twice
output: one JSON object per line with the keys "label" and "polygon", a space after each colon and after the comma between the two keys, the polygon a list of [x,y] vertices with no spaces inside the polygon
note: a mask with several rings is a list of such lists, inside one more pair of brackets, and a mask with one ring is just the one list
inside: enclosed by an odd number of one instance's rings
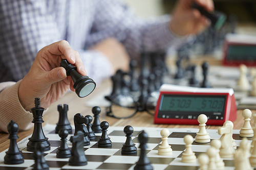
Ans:
{"label": "red-and-white chess clock in focus, displaying 57:03 twice", "polygon": [[163,84],[155,109],[155,124],[198,125],[198,116],[208,117],[207,125],[223,125],[237,118],[232,88],[199,88]]}

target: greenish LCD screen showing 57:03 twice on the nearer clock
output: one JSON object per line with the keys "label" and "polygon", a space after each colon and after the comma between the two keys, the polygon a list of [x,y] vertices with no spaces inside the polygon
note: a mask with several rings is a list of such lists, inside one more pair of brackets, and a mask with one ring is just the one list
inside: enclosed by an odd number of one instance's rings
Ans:
{"label": "greenish LCD screen showing 57:03 twice on the nearer clock", "polygon": [[223,112],[225,96],[162,95],[160,111]]}

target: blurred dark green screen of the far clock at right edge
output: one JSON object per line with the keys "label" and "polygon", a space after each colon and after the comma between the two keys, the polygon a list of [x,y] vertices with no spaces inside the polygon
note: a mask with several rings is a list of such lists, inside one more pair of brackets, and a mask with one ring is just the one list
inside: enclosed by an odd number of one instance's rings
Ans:
{"label": "blurred dark green screen of the far clock at right edge", "polygon": [[256,60],[256,45],[230,45],[227,60]]}

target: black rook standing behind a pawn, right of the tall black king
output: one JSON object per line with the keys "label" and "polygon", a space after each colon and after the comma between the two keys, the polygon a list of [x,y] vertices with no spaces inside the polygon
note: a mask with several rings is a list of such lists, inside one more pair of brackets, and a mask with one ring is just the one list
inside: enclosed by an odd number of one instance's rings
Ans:
{"label": "black rook standing behind a pawn, right of the tall black king", "polygon": [[58,105],[59,121],[55,128],[55,133],[58,133],[60,129],[66,129],[69,134],[72,134],[72,127],[68,119],[69,105],[64,104],[63,107]]}

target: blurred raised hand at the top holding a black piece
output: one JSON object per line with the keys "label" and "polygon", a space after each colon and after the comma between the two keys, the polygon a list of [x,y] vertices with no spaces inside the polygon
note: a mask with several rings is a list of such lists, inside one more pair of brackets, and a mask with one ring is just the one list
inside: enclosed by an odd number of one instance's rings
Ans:
{"label": "blurred raised hand at the top holding a black piece", "polygon": [[206,11],[214,11],[212,0],[180,0],[176,4],[170,29],[181,36],[202,32],[210,25],[210,20],[203,16],[197,9],[192,8],[192,3],[197,3]]}

